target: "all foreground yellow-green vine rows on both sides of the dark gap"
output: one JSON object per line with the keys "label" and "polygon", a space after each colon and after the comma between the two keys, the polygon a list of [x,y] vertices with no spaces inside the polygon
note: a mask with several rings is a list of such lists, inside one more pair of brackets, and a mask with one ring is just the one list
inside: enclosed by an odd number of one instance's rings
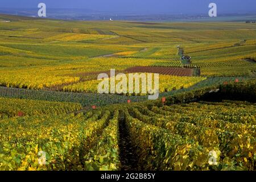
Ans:
{"label": "all foreground yellow-green vine rows on both sides of the dark gap", "polygon": [[[255,84],[246,85],[248,93],[254,89],[251,94],[255,97]],[[173,98],[177,101],[180,96],[183,94]],[[131,143],[139,147],[133,152],[138,155],[137,165],[141,169],[254,170],[255,104],[200,101],[158,105],[148,102],[77,115],[3,118],[0,167],[3,170],[121,169],[118,122],[123,117]],[[47,165],[37,160],[39,151],[46,152]],[[216,158],[214,164],[210,152]]]}

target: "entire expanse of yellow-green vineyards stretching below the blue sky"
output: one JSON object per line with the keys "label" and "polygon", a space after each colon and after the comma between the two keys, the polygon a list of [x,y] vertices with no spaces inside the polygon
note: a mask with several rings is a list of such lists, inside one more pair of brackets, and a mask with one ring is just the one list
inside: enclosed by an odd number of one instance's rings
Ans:
{"label": "entire expanse of yellow-green vineyards stretching below the blue sky", "polygon": [[[253,23],[0,15],[0,170],[253,171],[255,59]],[[159,99],[98,94],[110,69]]]}

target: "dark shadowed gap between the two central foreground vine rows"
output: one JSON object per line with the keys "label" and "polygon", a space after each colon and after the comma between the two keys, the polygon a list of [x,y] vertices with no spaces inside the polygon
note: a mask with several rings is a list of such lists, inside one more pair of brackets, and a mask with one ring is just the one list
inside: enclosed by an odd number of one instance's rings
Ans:
{"label": "dark shadowed gap between the two central foreground vine rows", "polygon": [[127,126],[125,123],[124,113],[119,115],[119,158],[122,164],[121,170],[123,171],[137,171],[138,166],[138,155],[136,148],[131,143],[131,137],[128,133]]}

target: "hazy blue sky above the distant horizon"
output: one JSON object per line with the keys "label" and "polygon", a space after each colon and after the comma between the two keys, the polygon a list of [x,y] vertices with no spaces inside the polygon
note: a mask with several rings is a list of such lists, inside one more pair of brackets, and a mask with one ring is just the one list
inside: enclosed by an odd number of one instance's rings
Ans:
{"label": "hazy blue sky above the distant horizon", "polygon": [[1,0],[0,8],[37,8],[40,2],[47,8],[168,14],[208,13],[209,3],[215,2],[219,13],[256,13],[255,0]]}

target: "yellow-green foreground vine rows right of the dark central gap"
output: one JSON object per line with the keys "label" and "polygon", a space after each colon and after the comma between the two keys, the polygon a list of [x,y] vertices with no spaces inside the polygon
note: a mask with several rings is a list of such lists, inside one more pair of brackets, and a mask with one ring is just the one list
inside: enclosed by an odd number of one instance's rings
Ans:
{"label": "yellow-green foreground vine rows right of the dark central gap", "polygon": [[[145,169],[254,170],[255,105],[203,102],[133,108],[126,111],[126,122]],[[217,154],[214,167],[210,151]]]}

